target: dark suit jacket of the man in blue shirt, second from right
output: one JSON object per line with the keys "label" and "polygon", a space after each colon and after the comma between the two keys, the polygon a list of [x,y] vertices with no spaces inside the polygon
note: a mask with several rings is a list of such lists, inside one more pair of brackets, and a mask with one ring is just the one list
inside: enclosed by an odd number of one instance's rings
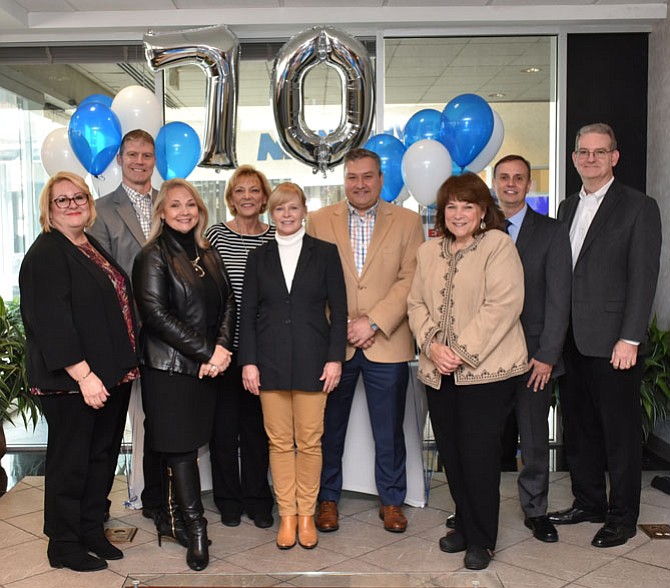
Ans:
{"label": "dark suit jacket of the man in blue shirt, second from right", "polygon": [[516,246],[524,273],[521,324],[528,358],[553,365],[552,377],[560,376],[565,371],[563,342],[570,321],[570,235],[563,223],[529,206]]}

